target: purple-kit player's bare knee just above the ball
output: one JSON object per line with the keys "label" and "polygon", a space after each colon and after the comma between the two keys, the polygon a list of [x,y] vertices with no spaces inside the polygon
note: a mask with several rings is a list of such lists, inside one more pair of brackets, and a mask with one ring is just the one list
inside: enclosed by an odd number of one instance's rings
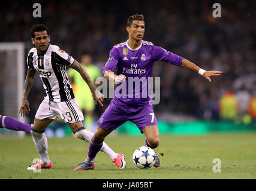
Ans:
{"label": "purple-kit player's bare knee just above the ball", "polygon": [[142,129],[145,134],[147,141],[152,146],[158,146],[159,144],[159,130],[157,125],[149,125]]}

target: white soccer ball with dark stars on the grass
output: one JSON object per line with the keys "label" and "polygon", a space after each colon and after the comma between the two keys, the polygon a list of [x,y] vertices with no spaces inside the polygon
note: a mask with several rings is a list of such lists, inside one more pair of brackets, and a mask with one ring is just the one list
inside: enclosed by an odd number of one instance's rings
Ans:
{"label": "white soccer ball with dark stars on the grass", "polygon": [[136,167],[141,169],[150,168],[155,164],[155,152],[149,147],[138,147],[132,155],[132,159]]}

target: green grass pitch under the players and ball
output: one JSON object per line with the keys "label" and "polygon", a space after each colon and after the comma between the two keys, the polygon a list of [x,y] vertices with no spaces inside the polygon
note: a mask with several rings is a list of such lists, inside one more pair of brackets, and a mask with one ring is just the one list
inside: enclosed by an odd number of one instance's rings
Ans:
{"label": "green grass pitch under the players and ball", "polygon": [[[72,136],[49,138],[53,167],[35,173],[26,170],[39,158],[32,138],[0,137],[0,178],[256,178],[256,133],[161,135],[161,167],[140,170],[132,162],[132,153],[144,140],[143,135],[106,138],[113,150],[126,156],[125,170],[100,152],[93,171],[75,172],[72,170],[85,160],[89,144]],[[212,171],[214,158],[221,159],[221,173]]]}

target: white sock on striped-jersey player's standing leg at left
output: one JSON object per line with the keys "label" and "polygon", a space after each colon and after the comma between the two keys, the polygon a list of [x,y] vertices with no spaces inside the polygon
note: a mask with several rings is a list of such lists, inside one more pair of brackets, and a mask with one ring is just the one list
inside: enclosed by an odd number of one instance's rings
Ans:
{"label": "white sock on striped-jersey player's standing leg at left", "polygon": [[47,138],[46,134],[44,134],[44,131],[37,131],[34,130],[34,128],[31,128],[31,134],[33,141],[35,143],[35,147],[37,148],[37,152],[40,155],[40,162],[43,165],[47,165],[50,163],[50,159],[48,157],[47,148]]}

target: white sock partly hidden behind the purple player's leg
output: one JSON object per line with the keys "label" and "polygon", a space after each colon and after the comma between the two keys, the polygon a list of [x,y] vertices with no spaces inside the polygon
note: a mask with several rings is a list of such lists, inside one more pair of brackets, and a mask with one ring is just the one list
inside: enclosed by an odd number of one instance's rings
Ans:
{"label": "white sock partly hidden behind the purple player's leg", "polygon": [[[94,136],[94,133],[88,130],[81,130],[76,133],[77,138],[80,138],[87,143],[90,143],[92,140],[92,137]],[[105,142],[103,142],[103,147],[101,149],[102,152],[106,153],[112,160],[118,156],[118,153],[115,153],[112,149],[110,149],[109,146]]]}

